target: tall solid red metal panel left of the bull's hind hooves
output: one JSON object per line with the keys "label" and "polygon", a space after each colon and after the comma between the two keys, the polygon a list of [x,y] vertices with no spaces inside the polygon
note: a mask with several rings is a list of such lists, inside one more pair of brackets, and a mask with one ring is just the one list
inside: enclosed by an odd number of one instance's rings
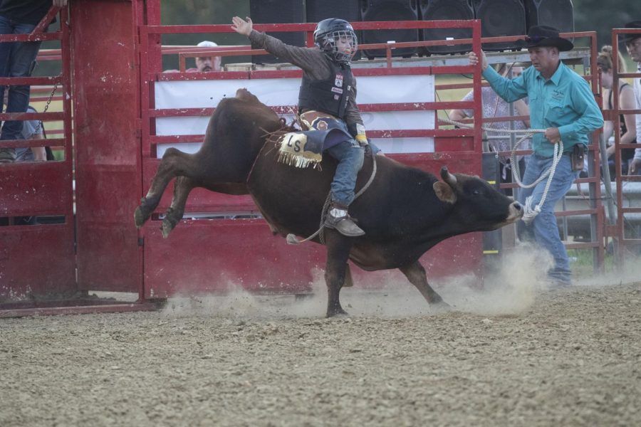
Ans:
{"label": "tall solid red metal panel left of the bull's hind hooves", "polygon": [[132,220],[141,191],[135,14],[127,1],[70,6],[78,287],[137,292],[142,278]]}

